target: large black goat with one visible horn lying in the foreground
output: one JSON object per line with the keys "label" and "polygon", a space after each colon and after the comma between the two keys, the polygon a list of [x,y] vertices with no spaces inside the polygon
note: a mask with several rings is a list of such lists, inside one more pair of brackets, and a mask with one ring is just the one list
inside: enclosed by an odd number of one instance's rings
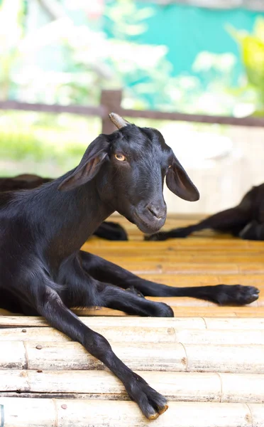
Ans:
{"label": "large black goat with one visible horn lying in the foreground", "polygon": [[[98,256],[80,251],[114,211],[153,233],[165,223],[163,181],[182,199],[199,193],[158,130],[136,127],[111,113],[119,130],[99,135],[79,165],[37,189],[0,194],[0,306],[41,315],[80,342],[123,382],[149,419],[166,411],[163,396],[116,357],[109,342],[70,307],[110,307],[129,315],[172,317],[150,296],[189,296],[242,305],[258,298],[250,286],[172,288],[138,278]],[[126,289],[134,290],[126,292]],[[139,294],[139,295],[138,295]]]}

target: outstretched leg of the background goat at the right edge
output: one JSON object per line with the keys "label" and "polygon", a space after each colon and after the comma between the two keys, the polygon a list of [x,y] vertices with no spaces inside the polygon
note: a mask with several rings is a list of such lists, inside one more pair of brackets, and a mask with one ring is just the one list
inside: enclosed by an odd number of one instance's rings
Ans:
{"label": "outstretched leg of the background goat at the right edge", "polygon": [[145,236],[148,241],[164,241],[167,238],[185,238],[194,231],[201,231],[210,228],[222,233],[231,233],[235,236],[242,230],[248,221],[248,211],[240,207],[226,209],[218,214],[205,218],[197,224],[183,228],[174,228],[170,231],[160,231],[152,236]]}

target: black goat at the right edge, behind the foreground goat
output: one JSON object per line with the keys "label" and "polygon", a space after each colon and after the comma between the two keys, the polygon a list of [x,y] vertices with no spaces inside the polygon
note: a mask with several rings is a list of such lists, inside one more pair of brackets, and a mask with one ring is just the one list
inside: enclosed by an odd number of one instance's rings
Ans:
{"label": "black goat at the right edge, behind the foreground goat", "polygon": [[231,233],[246,240],[264,240],[264,184],[253,187],[238,206],[221,211],[192,226],[160,231],[145,236],[147,241],[165,241],[167,238],[184,238],[194,231],[211,228],[221,233]]}

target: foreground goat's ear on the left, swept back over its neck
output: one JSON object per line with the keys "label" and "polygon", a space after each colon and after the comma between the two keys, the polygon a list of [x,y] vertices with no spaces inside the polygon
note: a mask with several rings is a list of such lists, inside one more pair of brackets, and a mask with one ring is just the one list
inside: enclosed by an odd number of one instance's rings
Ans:
{"label": "foreground goat's ear on the left, swept back over its neck", "polygon": [[77,168],[60,183],[57,189],[60,191],[72,190],[94,178],[106,160],[108,148],[109,141],[106,135],[99,135],[89,144]]}

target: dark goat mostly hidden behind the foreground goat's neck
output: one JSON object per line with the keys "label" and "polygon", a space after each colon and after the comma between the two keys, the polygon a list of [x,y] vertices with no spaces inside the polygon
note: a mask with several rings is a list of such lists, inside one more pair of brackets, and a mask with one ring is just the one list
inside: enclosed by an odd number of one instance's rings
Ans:
{"label": "dark goat mostly hidden behind the foreground goat's neck", "polygon": [[[36,187],[51,181],[53,181],[53,179],[42,178],[41,176],[32,174],[18,175],[13,178],[0,178],[0,193],[3,191],[35,189]],[[93,234],[94,236],[105,238],[109,241],[128,240],[128,235],[123,227],[110,221],[104,221],[101,223]]]}

